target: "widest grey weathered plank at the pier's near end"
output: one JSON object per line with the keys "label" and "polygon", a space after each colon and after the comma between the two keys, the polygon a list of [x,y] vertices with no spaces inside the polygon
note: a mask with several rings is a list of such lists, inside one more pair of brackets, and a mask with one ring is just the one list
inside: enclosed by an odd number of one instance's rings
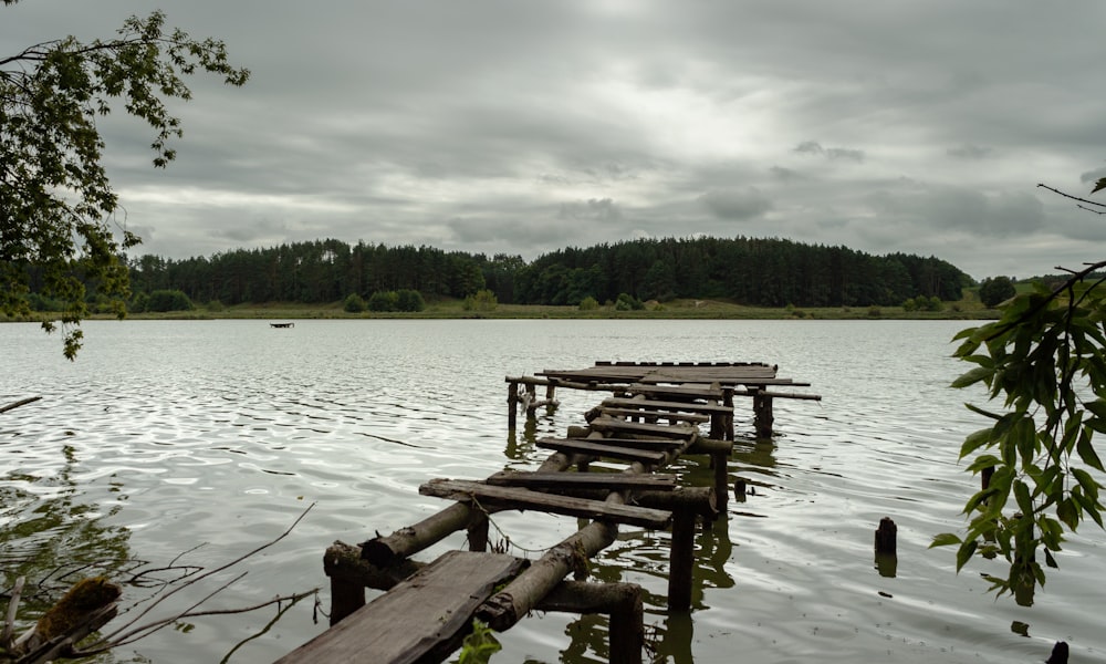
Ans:
{"label": "widest grey weathered plank at the pier's near end", "polygon": [[472,614],[525,561],[449,551],[278,664],[440,662],[472,629]]}

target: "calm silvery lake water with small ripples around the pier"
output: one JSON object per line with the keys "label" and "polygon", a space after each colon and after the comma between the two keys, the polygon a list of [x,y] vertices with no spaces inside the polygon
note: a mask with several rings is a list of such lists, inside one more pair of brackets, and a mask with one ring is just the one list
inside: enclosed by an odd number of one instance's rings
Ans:
{"label": "calm silvery lake water with small ripples around the pier", "polygon": [[[732,480],[755,488],[697,536],[690,615],[665,610],[668,533],[632,527],[593,577],[641,584],[654,662],[1041,662],[1067,641],[1073,662],[1106,662],[1106,542],[1071,538],[1032,606],[987,592],[951,549],[978,479],[958,465],[985,423],[953,391],[954,321],[265,321],[88,322],[75,363],[34,324],[0,325],[0,562],[61,584],[108,559],[212,569],[289,535],[150,616],[209,600],[225,609],[321,587],[334,540],[389,533],[448,502],[419,496],[435,477],[482,479],[536,467],[535,437],[584,424],[598,393],[561,391],[560,408],[514,435],[504,376],[609,361],[750,361],[811,383],[823,401],[775,402],[776,436],[755,444],[737,398]],[[681,459],[708,485],[706,459]],[[895,575],[873,559],[883,517],[898,525]],[[500,513],[512,552],[539,558],[575,519]],[[492,532],[492,540],[502,536]],[[199,544],[204,544],[197,548]],[[429,561],[463,536],[416,556]],[[526,550],[530,552],[528,553]],[[27,560],[33,558],[33,563]],[[90,566],[93,567],[82,567]],[[138,564],[131,563],[131,567]],[[115,568],[118,568],[115,564]],[[129,568],[127,568],[129,569]],[[148,580],[149,577],[142,577]],[[1004,572],[1003,572],[1004,575]],[[10,581],[10,580],[9,580]],[[125,599],[152,589],[128,587]],[[374,596],[375,591],[369,591]],[[271,662],[322,631],[313,601],[265,633],[275,608],[182,621],[105,661]],[[136,612],[135,612],[136,613]],[[133,615],[133,614],[131,614]],[[129,616],[128,616],[129,618]],[[546,613],[500,634],[492,662],[604,662],[602,618]],[[228,657],[228,654],[230,656]]]}

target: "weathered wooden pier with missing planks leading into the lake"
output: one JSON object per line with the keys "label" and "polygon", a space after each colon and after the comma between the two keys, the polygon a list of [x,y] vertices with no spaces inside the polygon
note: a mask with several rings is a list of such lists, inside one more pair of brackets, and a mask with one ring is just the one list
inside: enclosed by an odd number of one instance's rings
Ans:
{"label": "weathered wooden pier with missing planks leading into the lake", "polygon": [[[696,525],[726,511],[733,397],[753,398],[759,437],[771,436],[773,398],[820,398],[780,391],[807,384],[758,363],[596,363],[505,380],[512,429],[520,409],[533,417],[543,405],[554,407],[557,388],[612,395],[585,414],[586,426],[539,439],[551,454],[538,469],[480,481],[431,479],[419,492],[452,505],[392,535],[330,547],[323,568],[331,579],[331,629],[281,663],[437,663],[461,645],[473,619],[502,632],[540,610],[608,614],[611,662],[640,664],[641,589],[586,581],[587,559],[615,541],[618,523],[670,528],[668,610],[689,611]],[[536,398],[538,386],[546,388],[544,401]],[[700,434],[705,424],[709,436]],[[689,454],[711,457],[712,486],[680,486],[676,475],[660,473]],[[623,469],[589,471],[599,459]],[[504,510],[588,522],[531,561],[488,552],[489,518]],[[429,563],[411,560],[458,531],[467,532],[468,551],[448,551]],[[570,574],[575,580],[567,581]],[[387,592],[366,604],[366,588]]]}

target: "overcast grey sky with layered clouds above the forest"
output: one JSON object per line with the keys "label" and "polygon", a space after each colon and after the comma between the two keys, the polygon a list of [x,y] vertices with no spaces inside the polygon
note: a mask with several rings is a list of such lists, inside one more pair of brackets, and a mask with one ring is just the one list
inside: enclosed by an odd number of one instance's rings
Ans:
{"label": "overcast grey sky with layered clouds above the forest", "polygon": [[1106,217],[1036,187],[1106,176],[1100,0],[21,0],[0,55],[154,9],[252,79],[191,80],[165,170],[140,123],[101,123],[137,253],[709,235],[977,279],[1106,259]]}

